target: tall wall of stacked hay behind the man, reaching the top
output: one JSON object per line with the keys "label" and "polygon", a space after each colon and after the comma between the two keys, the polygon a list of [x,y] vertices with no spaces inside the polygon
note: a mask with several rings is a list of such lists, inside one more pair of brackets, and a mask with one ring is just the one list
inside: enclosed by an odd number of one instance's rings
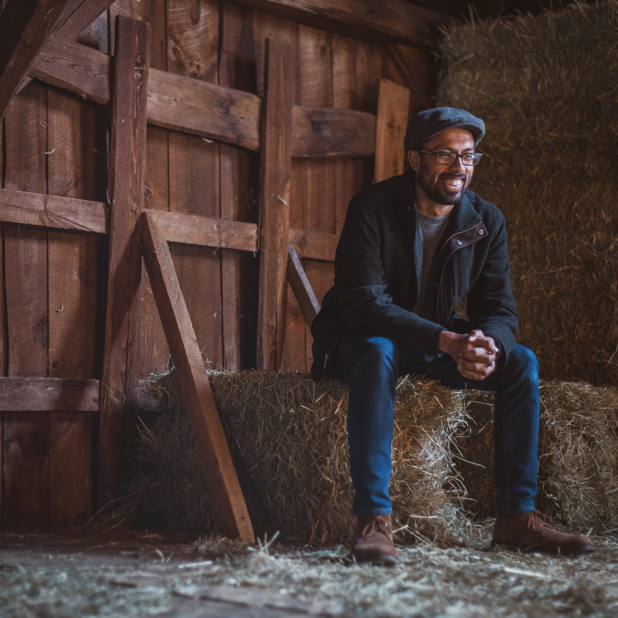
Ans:
{"label": "tall wall of stacked hay behind the man, reaching the top", "polygon": [[506,216],[519,342],[545,378],[613,383],[618,2],[455,26],[439,60],[438,104],[487,125],[471,188]]}

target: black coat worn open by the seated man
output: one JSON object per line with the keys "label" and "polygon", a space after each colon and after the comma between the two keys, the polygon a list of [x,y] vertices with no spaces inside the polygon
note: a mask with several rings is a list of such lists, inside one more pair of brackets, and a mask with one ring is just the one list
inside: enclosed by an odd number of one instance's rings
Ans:
{"label": "black coat worn open by the seated man", "polygon": [[[357,193],[348,206],[335,255],[335,280],[311,326],[313,366],[318,380],[346,332],[390,337],[430,362],[440,333],[481,329],[500,347],[503,366],[515,345],[519,316],[510,287],[504,216],[467,191],[455,204],[439,243],[436,269],[437,323],[412,313],[420,289],[423,257],[416,221],[415,175],[378,182]],[[468,295],[469,322],[453,306]]]}

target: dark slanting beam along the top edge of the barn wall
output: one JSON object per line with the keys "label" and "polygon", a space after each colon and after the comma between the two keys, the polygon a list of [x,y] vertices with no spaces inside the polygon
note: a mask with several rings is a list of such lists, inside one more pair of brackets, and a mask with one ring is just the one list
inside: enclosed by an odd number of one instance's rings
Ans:
{"label": "dark slanting beam along the top edge of the barn wall", "polygon": [[405,0],[235,0],[237,4],[313,28],[366,38],[431,45],[450,18]]}

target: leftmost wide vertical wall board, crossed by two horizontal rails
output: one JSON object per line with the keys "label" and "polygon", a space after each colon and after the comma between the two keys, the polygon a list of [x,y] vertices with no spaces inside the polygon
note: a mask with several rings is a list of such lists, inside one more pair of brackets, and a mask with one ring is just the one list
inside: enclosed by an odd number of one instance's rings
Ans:
{"label": "leftmost wide vertical wall board, crossed by two horizontal rails", "polygon": [[[17,95],[5,124],[5,187],[46,193],[47,88]],[[47,232],[6,227],[4,270],[9,376],[48,375]],[[46,525],[49,506],[48,414],[4,413],[4,525]]]}

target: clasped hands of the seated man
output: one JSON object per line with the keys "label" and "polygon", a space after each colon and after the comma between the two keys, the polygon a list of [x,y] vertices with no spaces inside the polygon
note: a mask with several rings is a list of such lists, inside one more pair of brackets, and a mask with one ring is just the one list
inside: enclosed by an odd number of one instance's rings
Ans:
{"label": "clasped hands of the seated man", "polygon": [[471,380],[484,380],[496,371],[497,355],[500,352],[496,342],[480,330],[464,335],[442,331],[438,349],[449,353],[457,363],[457,371]]}

